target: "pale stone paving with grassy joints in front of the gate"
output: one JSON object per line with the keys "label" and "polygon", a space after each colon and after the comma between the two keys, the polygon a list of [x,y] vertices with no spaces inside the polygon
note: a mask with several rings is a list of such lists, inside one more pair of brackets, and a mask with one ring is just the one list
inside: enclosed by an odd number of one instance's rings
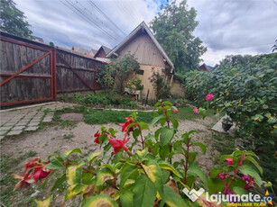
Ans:
{"label": "pale stone paving with grassy joints in front of the gate", "polygon": [[42,122],[52,121],[54,111],[70,107],[72,103],[42,103],[0,111],[0,139],[19,135],[24,130],[37,130]]}

